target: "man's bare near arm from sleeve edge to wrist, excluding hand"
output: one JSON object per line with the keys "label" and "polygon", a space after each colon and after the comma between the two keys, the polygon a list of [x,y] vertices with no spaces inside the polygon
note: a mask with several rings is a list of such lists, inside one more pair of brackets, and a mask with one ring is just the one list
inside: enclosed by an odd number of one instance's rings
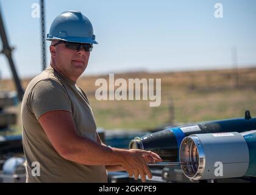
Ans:
{"label": "man's bare near arm from sleeve edge to wrist, excluding hand", "polygon": [[119,155],[110,147],[77,135],[71,113],[64,110],[47,112],[40,116],[39,122],[52,146],[66,160],[84,165],[121,163]]}

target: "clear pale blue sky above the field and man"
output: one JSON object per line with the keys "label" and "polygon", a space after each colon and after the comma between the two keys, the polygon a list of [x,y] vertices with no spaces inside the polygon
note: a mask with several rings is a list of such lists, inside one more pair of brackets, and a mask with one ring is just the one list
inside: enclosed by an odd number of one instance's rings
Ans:
{"label": "clear pale blue sky above the field and man", "polygon": [[[1,0],[2,16],[20,77],[41,71],[40,19],[32,18],[36,0]],[[214,5],[223,5],[215,18]],[[45,1],[46,32],[66,10],[80,10],[93,23],[98,45],[86,74],[124,71],[177,71],[256,66],[255,0]],[[47,50],[49,42],[47,41]],[[47,53],[49,64],[49,52]],[[2,77],[11,71],[0,56]]]}

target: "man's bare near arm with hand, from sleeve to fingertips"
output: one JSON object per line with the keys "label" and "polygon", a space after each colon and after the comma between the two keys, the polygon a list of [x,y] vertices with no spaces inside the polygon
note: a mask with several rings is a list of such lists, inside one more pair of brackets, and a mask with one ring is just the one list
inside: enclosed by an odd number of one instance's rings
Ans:
{"label": "man's bare near arm with hand, from sleeve to fingertips", "polygon": [[134,175],[138,179],[140,175],[143,182],[146,181],[146,175],[152,178],[143,156],[151,156],[161,161],[157,154],[150,151],[117,149],[103,146],[90,138],[80,137],[76,133],[73,116],[68,111],[46,112],[38,121],[54,149],[66,160],[83,165],[121,165],[130,177]]}

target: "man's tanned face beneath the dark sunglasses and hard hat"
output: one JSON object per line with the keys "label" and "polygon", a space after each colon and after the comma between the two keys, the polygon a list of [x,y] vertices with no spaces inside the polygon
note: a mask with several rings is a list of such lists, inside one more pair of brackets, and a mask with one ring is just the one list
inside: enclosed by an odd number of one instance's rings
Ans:
{"label": "man's tanned face beneath the dark sunglasses and hard hat", "polygon": [[[52,41],[52,44],[57,41]],[[52,60],[54,60],[54,68],[61,71],[72,80],[76,80],[85,68],[87,68],[90,52],[80,49],[79,51],[66,48],[64,43],[50,46]]]}

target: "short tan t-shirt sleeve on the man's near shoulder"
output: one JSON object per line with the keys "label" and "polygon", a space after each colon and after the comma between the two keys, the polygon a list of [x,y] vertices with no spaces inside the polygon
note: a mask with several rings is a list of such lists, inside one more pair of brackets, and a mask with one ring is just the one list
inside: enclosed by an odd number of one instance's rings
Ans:
{"label": "short tan t-shirt sleeve on the man's near shoulder", "polygon": [[37,120],[44,113],[54,110],[72,112],[65,88],[54,79],[40,80],[30,91],[28,102]]}

